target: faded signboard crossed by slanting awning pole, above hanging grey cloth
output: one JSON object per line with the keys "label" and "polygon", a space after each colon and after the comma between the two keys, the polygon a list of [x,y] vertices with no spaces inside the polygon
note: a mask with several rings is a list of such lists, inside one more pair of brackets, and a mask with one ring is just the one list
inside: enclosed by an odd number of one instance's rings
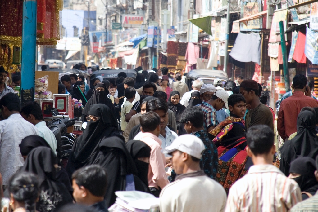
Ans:
{"label": "faded signboard crossed by slanting awning pole, above hanging grey cloth", "polygon": [[[261,0],[241,1],[241,14],[243,14],[244,18],[255,15],[261,11],[262,11]],[[262,28],[261,18],[248,21],[247,25],[245,25],[244,23],[240,23],[241,31],[252,31],[252,29],[260,29],[260,28]]]}

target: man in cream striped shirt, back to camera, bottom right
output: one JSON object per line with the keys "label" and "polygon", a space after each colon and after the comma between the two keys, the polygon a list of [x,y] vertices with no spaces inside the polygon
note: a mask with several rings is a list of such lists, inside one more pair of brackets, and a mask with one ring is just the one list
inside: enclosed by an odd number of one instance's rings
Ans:
{"label": "man in cream striped shirt, back to camera, bottom right", "polygon": [[246,148],[253,166],[230,188],[225,212],[285,212],[301,202],[301,190],[273,166],[275,153],[273,129],[255,125],[248,129]]}

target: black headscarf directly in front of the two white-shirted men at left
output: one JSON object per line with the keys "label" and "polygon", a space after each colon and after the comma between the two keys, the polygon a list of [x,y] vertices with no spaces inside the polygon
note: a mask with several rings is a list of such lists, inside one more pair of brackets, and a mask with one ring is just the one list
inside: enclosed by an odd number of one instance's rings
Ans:
{"label": "black headscarf directly in front of the two white-shirted men at left", "polygon": [[26,136],[24,139],[22,139],[21,143],[19,144],[21,155],[27,156],[32,149],[39,146],[51,148],[50,145],[44,140],[44,138],[40,136]]}

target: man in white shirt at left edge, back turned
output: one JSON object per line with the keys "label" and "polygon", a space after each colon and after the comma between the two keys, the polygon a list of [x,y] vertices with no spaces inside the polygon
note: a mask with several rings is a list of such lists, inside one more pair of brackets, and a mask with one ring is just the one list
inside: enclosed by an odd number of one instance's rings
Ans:
{"label": "man in white shirt at left edge, back turned", "polygon": [[0,173],[3,185],[23,166],[24,159],[19,144],[26,136],[38,135],[38,129],[20,115],[20,98],[8,93],[0,99],[0,108],[5,120],[0,121]]}

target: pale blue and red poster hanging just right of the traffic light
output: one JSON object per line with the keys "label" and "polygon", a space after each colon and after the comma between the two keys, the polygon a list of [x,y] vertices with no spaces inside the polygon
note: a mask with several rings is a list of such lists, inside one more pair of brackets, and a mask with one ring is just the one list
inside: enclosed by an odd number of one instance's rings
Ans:
{"label": "pale blue and red poster hanging just right of the traffic light", "polygon": [[[105,45],[105,31],[89,31],[89,41],[91,43],[92,52],[99,52],[99,48]],[[113,42],[112,31],[107,31],[107,44]]]}

